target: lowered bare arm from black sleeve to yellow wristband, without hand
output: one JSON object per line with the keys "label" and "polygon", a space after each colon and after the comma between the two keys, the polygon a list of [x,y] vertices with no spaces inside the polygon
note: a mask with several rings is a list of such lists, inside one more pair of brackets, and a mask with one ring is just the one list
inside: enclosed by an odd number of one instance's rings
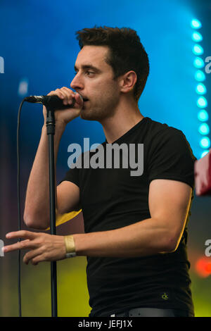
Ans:
{"label": "lowered bare arm from black sleeve to yellow wristband, without hand", "polygon": [[77,255],[132,257],[175,251],[191,192],[183,182],[153,180],[148,196],[151,218],[116,230],[73,235]]}

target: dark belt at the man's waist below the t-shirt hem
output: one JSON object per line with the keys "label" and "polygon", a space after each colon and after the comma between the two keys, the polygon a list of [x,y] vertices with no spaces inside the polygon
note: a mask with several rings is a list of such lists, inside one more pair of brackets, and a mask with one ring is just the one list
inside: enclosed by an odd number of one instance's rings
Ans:
{"label": "dark belt at the man's waist below the t-shirt hem", "polygon": [[113,313],[110,317],[193,317],[193,315],[180,309],[134,308],[122,313]]}

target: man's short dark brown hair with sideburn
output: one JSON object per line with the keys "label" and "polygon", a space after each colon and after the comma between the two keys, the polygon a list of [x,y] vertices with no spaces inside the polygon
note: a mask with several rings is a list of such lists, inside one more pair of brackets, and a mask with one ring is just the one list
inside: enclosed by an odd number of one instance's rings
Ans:
{"label": "man's short dark brown hair with sideburn", "polygon": [[114,79],[134,70],[137,82],[134,86],[134,98],[138,102],[146,85],[149,74],[148,54],[135,30],[129,27],[93,27],[76,32],[79,47],[108,46],[110,53],[106,59],[113,68]]}

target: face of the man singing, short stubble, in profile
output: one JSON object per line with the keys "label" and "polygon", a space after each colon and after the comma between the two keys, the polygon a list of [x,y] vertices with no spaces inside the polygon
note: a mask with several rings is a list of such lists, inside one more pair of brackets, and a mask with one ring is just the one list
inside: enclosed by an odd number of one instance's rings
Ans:
{"label": "face of the man singing, short stubble, in profile", "polygon": [[84,46],[75,62],[75,78],[70,87],[81,94],[84,106],[80,117],[101,120],[113,115],[120,99],[120,87],[113,69],[106,63],[107,46]]}

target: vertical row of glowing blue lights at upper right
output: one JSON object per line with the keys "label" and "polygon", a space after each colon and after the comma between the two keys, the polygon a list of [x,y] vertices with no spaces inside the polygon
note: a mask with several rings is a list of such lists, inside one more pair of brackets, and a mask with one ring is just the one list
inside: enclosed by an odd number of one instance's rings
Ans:
{"label": "vertical row of glowing blue lights at upper right", "polygon": [[203,61],[203,58],[200,58],[200,56],[204,53],[203,47],[198,44],[199,42],[203,41],[203,36],[198,32],[198,29],[201,27],[201,23],[199,20],[191,20],[191,27],[194,29],[194,32],[192,34],[192,40],[195,43],[193,45],[193,54],[196,55],[196,58],[194,58],[193,65],[197,69],[195,73],[195,80],[198,82],[196,85],[196,93],[198,94],[198,99],[196,101],[196,104],[200,110],[198,111],[198,120],[200,120],[200,125],[198,127],[198,132],[200,135],[203,135],[203,137],[200,139],[200,147],[203,149],[203,152],[201,154],[201,158],[205,156],[209,152],[210,148],[210,138],[207,137],[210,133],[210,127],[207,125],[207,120],[209,119],[209,115],[205,108],[207,108],[207,99],[205,98],[205,94],[207,93],[207,88],[205,87],[205,84],[203,82],[205,81],[205,73],[201,70],[204,68],[205,63]]}

